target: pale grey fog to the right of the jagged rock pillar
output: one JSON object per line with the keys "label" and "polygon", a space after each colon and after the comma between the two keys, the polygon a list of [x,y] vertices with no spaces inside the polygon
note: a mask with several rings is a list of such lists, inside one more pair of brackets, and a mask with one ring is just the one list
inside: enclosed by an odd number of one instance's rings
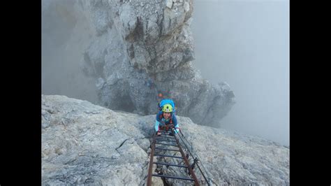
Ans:
{"label": "pale grey fog to the right of the jagged rock pillar", "polygon": [[193,2],[194,65],[236,97],[221,127],[289,145],[288,1]]}

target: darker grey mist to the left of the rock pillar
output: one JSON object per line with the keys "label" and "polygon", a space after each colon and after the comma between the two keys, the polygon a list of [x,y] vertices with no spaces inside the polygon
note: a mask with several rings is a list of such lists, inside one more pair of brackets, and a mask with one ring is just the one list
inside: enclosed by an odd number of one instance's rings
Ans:
{"label": "darker grey mist to the left of the rock pillar", "polygon": [[93,29],[73,0],[43,0],[41,16],[42,94],[97,103],[95,80],[81,70]]}

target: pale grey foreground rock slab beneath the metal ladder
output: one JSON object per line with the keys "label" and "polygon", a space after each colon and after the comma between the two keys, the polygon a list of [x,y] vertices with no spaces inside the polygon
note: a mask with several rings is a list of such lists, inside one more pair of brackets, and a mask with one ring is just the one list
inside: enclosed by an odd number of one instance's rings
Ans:
{"label": "pale grey foreground rock slab beneath the metal ladder", "polygon": [[[42,95],[41,115],[42,185],[146,184],[155,115],[117,113],[56,95]],[[289,185],[288,148],[194,124],[188,117],[178,121],[214,184]],[[165,184],[185,185],[171,179]]]}

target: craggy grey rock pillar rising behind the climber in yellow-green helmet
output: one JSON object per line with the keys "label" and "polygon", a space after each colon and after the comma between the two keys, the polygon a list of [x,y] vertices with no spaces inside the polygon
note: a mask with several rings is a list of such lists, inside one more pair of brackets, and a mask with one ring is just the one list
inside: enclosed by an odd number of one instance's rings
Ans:
{"label": "craggy grey rock pillar rising behind the climber in yellow-green helmet", "polygon": [[[101,105],[140,115],[154,114],[161,92],[175,100],[179,115],[217,127],[235,103],[229,85],[208,83],[191,64],[192,0],[67,3],[73,3],[66,6],[73,7],[71,10],[55,6],[57,12],[69,12],[73,20],[85,17],[89,24],[84,30],[91,30],[91,42],[82,51],[82,70],[96,79]],[[73,31],[73,36],[80,34],[78,29]]]}

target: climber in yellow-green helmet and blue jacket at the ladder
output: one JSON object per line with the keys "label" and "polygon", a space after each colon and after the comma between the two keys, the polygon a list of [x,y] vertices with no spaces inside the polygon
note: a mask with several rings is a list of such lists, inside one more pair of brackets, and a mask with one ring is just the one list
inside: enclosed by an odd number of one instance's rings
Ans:
{"label": "climber in yellow-green helmet and blue jacket at the ladder", "polygon": [[[157,113],[156,122],[154,125],[156,135],[158,136],[161,135],[161,131],[160,131],[161,127],[170,127],[171,129],[173,129],[175,134],[179,132],[179,124],[177,123],[177,118],[172,111],[173,109],[171,104],[166,103],[165,105],[162,106],[162,110],[160,110],[159,113]],[[172,132],[170,132],[169,135],[172,136],[173,135]]]}

